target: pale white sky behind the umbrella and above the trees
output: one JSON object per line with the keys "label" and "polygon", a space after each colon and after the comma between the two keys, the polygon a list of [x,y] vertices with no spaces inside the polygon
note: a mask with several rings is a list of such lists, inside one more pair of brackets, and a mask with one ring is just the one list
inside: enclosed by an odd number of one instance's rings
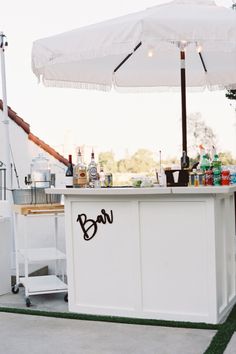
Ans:
{"label": "pale white sky behind the umbrella and above the trees", "polygon": [[[122,158],[138,148],[163,158],[181,154],[180,93],[120,94],[46,88],[31,70],[33,41],[169,2],[164,0],[0,0],[7,103],[33,134],[63,153],[94,146]],[[230,7],[231,0],[217,4]],[[1,89],[0,89],[1,93]],[[1,95],[2,96],[2,95]],[[224,91],[187,94],[187,113],[201,113],[220,151],[236,156],[236,112]],[[67,149],[63,146],[67,144]],[[69,151],[71,150],[71,151]]]}

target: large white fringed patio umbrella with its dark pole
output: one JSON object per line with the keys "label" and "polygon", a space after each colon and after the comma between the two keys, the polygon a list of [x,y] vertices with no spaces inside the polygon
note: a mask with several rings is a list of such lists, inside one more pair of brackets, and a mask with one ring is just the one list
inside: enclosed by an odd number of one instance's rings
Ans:
{"label": "large white fringed patio umbrella with its dark pole", "polygon": [[[186,86],[236,88],[236,13],[212,0],[174,0],[37,40],[32,68],[46,86],[132,92],[181,88],[187,154]],[[188,157],[182,163],[186,167]]]}

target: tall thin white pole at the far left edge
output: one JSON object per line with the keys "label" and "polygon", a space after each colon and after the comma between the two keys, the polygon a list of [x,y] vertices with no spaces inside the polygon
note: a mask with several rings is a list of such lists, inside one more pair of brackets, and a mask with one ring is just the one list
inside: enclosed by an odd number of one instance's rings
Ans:
{"label": "tall thin white pole at the far left edge", "polygon": [[9,118],[7,107],[7,90],[6,90],[6,70],[5,70],[5,47],[8,45],[6,36],[0,32],[0,57],[1,57],[1,77],[2,77],[2,101],[3,101],[3,127],[4,127],[4,156],[3,161],[6,165],[6,188],[7,200],[10,199],[11,193],[11,163],[10,163],[10,136],[9,136]]}

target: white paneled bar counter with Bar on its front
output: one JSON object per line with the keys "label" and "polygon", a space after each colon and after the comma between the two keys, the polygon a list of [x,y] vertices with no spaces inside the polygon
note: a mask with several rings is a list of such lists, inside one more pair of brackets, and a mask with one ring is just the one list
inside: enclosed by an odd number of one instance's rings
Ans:
{"label": "white paneled bar counter with Bar on its front", "polygon": [[48,189],[65,200],[69,310],[221,322],[236,303],[234,192]]}

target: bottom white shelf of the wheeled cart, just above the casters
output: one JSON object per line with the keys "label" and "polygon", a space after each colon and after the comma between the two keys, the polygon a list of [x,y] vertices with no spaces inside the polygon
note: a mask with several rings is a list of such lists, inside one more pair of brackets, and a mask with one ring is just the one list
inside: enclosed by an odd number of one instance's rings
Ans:
{"label": "bottom white shelf of the wheeled cart, just above the casters", "polygon": [[67,291],[67,284],[56,275],[37,277],[20,277],[20,283],[25,287],[28,295],[52,294]]}

